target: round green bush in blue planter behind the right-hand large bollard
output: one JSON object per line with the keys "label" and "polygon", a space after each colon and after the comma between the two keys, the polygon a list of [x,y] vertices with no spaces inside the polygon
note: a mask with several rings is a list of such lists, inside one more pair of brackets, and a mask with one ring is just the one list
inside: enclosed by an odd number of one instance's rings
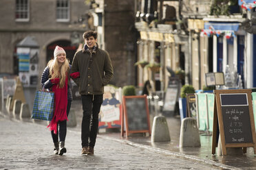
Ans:
{"label": "round green bush in blue planter behind the right-hand large bollard", "polygon": [[186,94],[195,93],[195,88],[192,85],[184,85],[180,91],[179,108],[180,108],[180,120],[186,117]]}

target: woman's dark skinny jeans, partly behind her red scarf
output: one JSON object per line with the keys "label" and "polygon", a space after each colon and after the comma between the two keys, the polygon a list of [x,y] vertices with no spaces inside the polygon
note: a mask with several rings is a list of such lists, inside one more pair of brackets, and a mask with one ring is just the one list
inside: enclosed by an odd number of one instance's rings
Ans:
{"label": "woman's dark skinny jeans, partly behind her red scarf", "polygon": [[[67,117],[70,113],[70,107],[71,107],[71,100],[67,100]],[[58,132],[58,126],[60,127],[60,130]],[[58,135],[60,137],[60,141],[65,142],[66,134],[67,134],[67,120],[65,121],[58,121],[57,124],[57,133],[54,134],[54,131],[51,131],[52,134],[52,141],[54,143],[58,142]]]}

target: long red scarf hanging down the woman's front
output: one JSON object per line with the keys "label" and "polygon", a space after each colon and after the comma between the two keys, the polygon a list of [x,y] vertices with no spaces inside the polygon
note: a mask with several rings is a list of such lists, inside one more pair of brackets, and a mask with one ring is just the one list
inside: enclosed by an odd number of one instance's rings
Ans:
{"label": "long red scarf hanging down the woman's front", "polygon": [[55,110],[52,121],[47,127],[50,127],[50,130],[53,130],[54,134],[57,134],[58,121],[67,120],[67,77],[66,75],[65,86],[63,88],[59,88],[58,84],[52,86],[52,91],[55,93]]}

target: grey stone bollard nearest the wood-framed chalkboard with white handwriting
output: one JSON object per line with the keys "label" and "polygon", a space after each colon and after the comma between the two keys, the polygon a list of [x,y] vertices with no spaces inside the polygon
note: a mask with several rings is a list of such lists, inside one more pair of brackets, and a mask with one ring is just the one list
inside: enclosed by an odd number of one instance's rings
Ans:
{"label": "grey stone bollard nearest the wood-framed chalkboard with white handwriting", "polygon": [[200,147],[200,134],[197,121],[194,118],[182,119],[180,127],[180,147]]}

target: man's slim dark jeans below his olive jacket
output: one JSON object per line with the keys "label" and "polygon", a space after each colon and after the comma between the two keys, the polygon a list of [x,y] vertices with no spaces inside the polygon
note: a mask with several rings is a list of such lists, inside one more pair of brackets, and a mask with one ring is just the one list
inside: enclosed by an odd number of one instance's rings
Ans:
{"label": "man's slim dark jeans below his olive jacket", "polygon": [[81,97],[83,104],[82,147],[94,147],[98,132],[98,113],[103,103],[103,95],[81,95]]}

